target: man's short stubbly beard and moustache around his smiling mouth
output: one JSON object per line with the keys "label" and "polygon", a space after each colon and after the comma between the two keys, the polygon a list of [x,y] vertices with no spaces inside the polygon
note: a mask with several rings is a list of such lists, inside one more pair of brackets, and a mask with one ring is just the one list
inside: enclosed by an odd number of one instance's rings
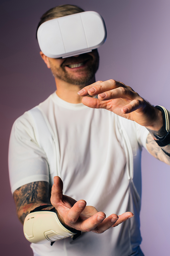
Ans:
{"label": "man's short stubbly beard and moustache around his smiling mouth", "polygon": [[[60,68],[56,68],[51,62],[50,62],[50,68],[51,72],[54,77],[57,79],[60,79],[64,82],[67,82],[69,84],[74,85],[86,85],[88,84],[91,79],[95,76],[98,68],[99,68],[99,54],[98,51],[95,50],[95,58],[92,57],[89,54],[81,54],[79,57],[68,57],[66,60],[62,63]],[[88,61],[88,65],[83,68],[83,70],[78,69],[75,74],[70,74],[66,69],[65,66],[67,66],[73,63],[81,63]],[[77,75],[76,75],[77,74]]]}

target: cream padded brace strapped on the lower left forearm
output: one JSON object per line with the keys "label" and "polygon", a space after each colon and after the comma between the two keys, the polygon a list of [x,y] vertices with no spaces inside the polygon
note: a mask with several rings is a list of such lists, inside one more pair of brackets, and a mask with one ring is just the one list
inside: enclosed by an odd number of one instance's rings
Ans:
{"label": "cream padded brace strapped on the lower left forearm", "polygon": [[24,236],[31,243],[47,243],[73,236],[59,221],[55,212],[38,211],[29,213],[23,224]]}

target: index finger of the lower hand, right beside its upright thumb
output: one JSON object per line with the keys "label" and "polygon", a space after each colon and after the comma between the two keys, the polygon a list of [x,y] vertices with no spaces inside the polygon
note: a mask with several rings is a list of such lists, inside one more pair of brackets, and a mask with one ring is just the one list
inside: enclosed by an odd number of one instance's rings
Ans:
{"label": "index finger of the lower hand, right beside its upright thumb", "polygon": [[73,207],[67,212],[66,216],[65,216],[65,223],[70,226],[72,224],[74,224],[80,214],[83,212],[83,210],[85,209],[86,207],[86,201],[85,200],[79,200],[77,201]]}

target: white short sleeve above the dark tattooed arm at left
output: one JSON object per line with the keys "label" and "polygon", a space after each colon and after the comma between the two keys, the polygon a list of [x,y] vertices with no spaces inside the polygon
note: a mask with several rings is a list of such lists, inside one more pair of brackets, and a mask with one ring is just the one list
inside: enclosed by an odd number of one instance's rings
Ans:
{"label": "white short sleeve above the dark tattooed arm at left", "polygon": [[10,136],[8,166],[11,191],[31,182],[49,182],[49,166],[35,137],[33,120],[25,112],[14,123]]}

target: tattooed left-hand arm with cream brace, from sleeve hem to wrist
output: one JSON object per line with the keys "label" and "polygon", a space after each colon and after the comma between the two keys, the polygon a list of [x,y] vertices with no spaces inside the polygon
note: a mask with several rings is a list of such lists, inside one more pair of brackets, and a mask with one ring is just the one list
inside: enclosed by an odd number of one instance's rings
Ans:
{"label": "tattooed left-hand arm with cream brace, from sleeve hem to wrist", "polygon": [[65,237],[74,236],[76,238],[80,235],[80,231],[65,225],[50,203],[47,182],[40,181],[23,185],[15,190],[14,200],[18,218],[23,224],[24,235],[28,241],[33,243],[54,242]]}

